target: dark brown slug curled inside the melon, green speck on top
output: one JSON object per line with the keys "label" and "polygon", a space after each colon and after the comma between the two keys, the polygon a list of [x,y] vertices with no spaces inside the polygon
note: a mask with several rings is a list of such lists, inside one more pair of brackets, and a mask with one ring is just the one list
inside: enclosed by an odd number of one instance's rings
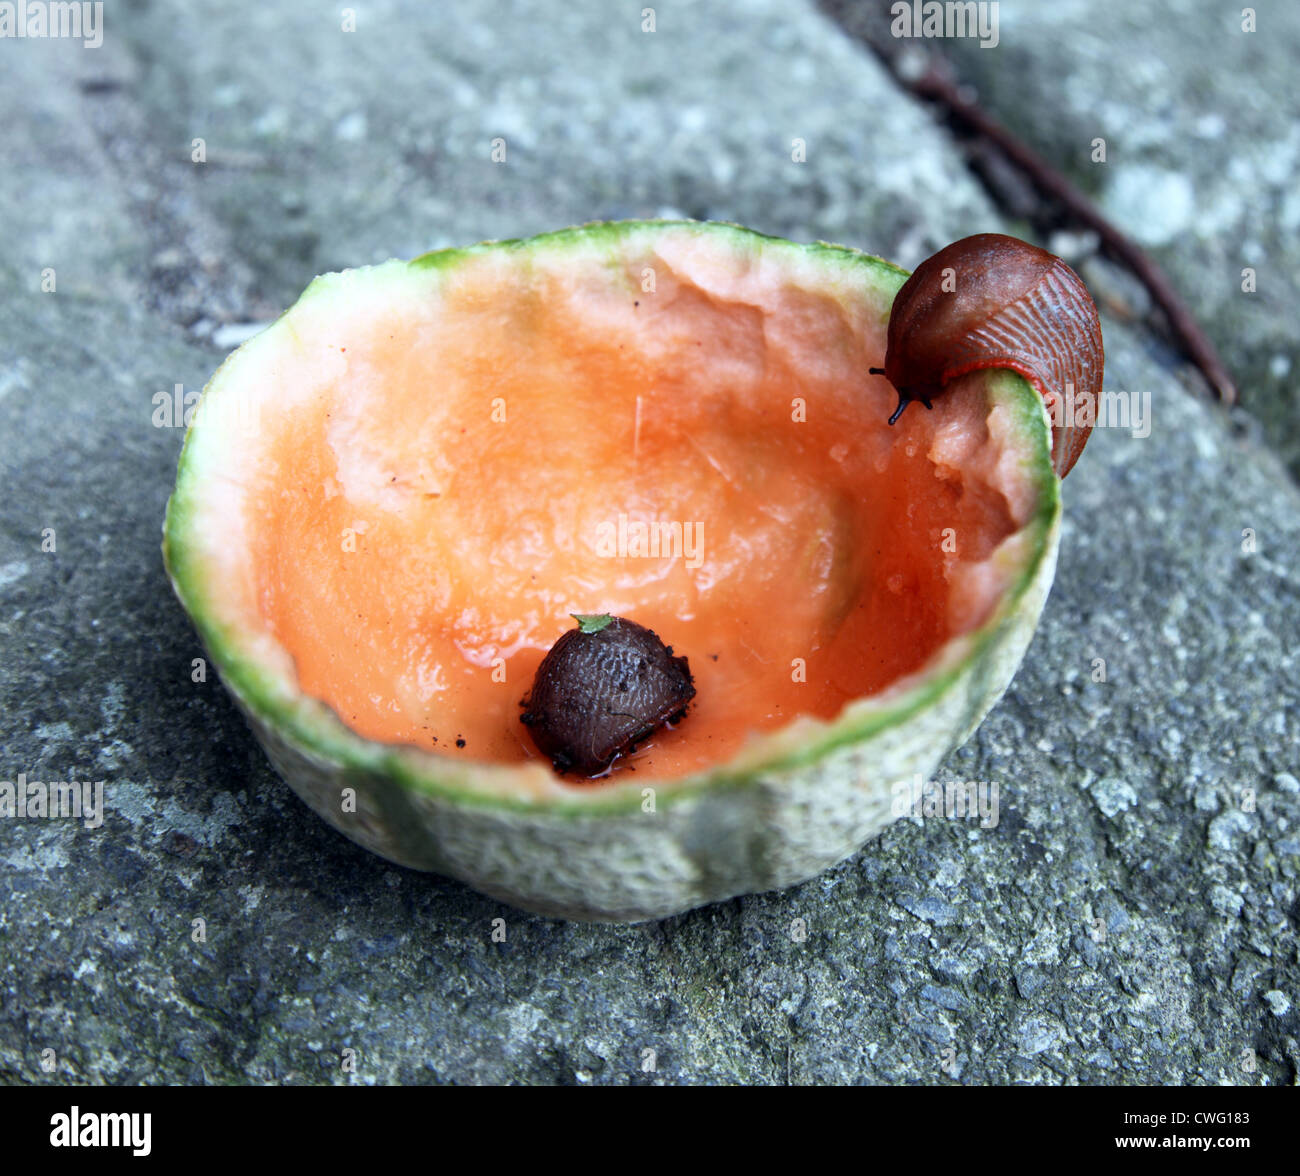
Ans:
{"label": "dark brown slug curled inside the melon, green speck on top", "polygon": [[623,617],[580,616],[537,667],[520,716],[560,774],[599,776],[680,719],[696,697],[685,658]]}

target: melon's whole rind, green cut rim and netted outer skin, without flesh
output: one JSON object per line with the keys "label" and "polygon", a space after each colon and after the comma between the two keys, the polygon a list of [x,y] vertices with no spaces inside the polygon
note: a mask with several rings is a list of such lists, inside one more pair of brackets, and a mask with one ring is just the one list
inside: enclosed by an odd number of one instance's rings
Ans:
{"label": "melon's whole rind, green cut rim and netted outer skin, without flesh", "polygon": [[[881,294],[888,316],[905,270],[858,251],[798,246],[732,225],[612,222],[517,242],[442,249],[408,270],[450,269],[488,249],[590,247],[593,256],[633,233],[708,233],[737,249],[792,251]],[[837,275],[841,277],[841,275]],[[317,278],[270,330],[290,329],[300,308],[343,288],[346,274]],[[229,376],[244,344],[217,370]],[[1036,491],[1032,518],[1019,533],[1028,552],[994,615],[950,643],[940,669],[914,676],[840,719],[807,725],[797,746],[760,763],[673,781],[638,780],[571,787],[559,795],[510,793],[515,769],[488,767],[365,739],[325,704],[304,698],[252,659],[207,607],[211,585],[187,543],[187,524],[204,482],[195,456],[199,429],[186,438],[177,489],[164,522],[164,561],[222,682],[290,786],[326,821],[403,865],[459,878],[538,914],[569,919],[658,919],[708,902],[788,886],[855,851],[888,824],[896,781],[928,778],[983,720],[1010,684],[1034,635],[1052,585],[1060,539],[1060,481],[1050,461],[1050,426],[1039,395],[1011,372],[983,376],[989,396],[1011,411],[1018,452]],[[772,741],[779,743],[780,741]],[[790,741],[786,741],[789,743]],[[355,812],[344,812],[346,789]],[[653,789],[653,811],[646,802]]]}

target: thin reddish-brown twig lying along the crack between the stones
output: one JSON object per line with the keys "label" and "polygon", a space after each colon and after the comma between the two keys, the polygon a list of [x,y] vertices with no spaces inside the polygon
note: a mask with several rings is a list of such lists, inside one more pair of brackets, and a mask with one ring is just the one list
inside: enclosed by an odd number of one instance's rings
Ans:
{"label": "thin reddish-brown twig lying along the crack between the stones", "polygon": [[1056,200],[1075,221],[1092,229],[1106,252],[1127,266],[1150,291],[1152,300],[1165,312],[1174,338],[1209,381],[1218,398],[1226,404],[1236,403],[1236,385],[1218,357],[1214,344],[1206,338],[1169,277],[1149,253],[1108,221],[1065,175],[993,120],[976,105],[974,99],[967,97],[942,66],[932,64],[919,78],[900,77],[898,81],[919,97],[940,103],[954,120],[997,147],[1039,191]]}

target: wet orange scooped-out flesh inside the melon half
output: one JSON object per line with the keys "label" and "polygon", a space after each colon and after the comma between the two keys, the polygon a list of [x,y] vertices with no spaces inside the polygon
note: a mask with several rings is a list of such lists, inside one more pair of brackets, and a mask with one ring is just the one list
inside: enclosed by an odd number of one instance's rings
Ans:
{"label": "wet orange scooped-out flesh inside the melon half", "polygon": [[[624,761],[676,777],[988,617],[1034,494],[983,386],[890,429],[888,300],[715,253],[469,256],[274,344],[259,394],[295,391],[231,476],[303,691],[370,739],[540,759],[520,699],[610,612],[690,660],[688,717]],[[649,524],[696,546],[642,554]]]}

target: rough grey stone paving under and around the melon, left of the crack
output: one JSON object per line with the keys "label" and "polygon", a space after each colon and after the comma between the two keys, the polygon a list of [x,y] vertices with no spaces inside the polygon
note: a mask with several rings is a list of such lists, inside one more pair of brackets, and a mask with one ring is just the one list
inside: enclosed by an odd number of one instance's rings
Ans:
{"label": "rough grey stone paving under and around the melon, left of the crack", "polygon": [[907,262],[997,225],[811,10],[612,12],[341,34],[155,4],[66,60],[0,45],[47,112],[0,144],[0,777],[107,806],[0,820],[0,1081],[1295,1082],[1300,492],[1144,334],[1106,324],[1108,386],[1152,390],[1150,437],[1095,434],[1035,645],[944,769],[998,784],[991,829],[904,821],[788,893],[554,923],[356,849],[191,681],[159,555],[181,431],[151,418],[216,366],[212,325],[317,269],[670,205]]}

